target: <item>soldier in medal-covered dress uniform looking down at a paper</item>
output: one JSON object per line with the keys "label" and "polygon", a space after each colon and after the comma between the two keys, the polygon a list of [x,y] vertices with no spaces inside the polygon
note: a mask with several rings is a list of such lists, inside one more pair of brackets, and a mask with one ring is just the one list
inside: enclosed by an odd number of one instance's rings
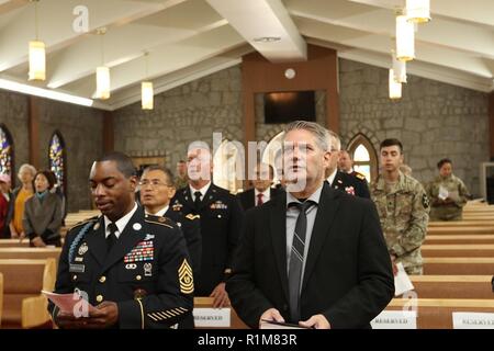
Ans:
{"label": "soldier in medal-covered dress uniform looking down at a paper", "polygon": [[137,178],[126,155],[103,156],[92,165],[89,181],[102,215],[68,233],[55,293],[80,294],[96,308],[68,313],[49,303],[54,321],[60,328],[169,328],[180,322],[193,308],[194,285],[179,227],[137,206]]}

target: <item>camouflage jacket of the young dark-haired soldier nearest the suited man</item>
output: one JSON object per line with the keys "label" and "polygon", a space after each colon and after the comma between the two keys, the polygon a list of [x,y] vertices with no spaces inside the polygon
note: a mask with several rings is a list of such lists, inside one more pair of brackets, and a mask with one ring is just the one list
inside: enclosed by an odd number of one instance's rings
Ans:
{"label": "camouflage jacket of the young dark-haired soldier nearest the suited man", "polygon": [[371,197],[378,208],[390,254],[405,268],[422,267],[420,246],[427,233],[429,200],[424,186],[400,172],[395,184],[380,177],[371,184]]}

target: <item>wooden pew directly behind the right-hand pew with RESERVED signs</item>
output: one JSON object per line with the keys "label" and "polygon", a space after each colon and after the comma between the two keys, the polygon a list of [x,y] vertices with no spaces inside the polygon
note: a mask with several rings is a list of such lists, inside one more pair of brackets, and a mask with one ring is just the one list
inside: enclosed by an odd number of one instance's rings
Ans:
{"label": "wooden pew directly behind the right-hand pew with RESERVED signs", "polygon": [[492,275],[409,275],[418,298],[494,299]]}

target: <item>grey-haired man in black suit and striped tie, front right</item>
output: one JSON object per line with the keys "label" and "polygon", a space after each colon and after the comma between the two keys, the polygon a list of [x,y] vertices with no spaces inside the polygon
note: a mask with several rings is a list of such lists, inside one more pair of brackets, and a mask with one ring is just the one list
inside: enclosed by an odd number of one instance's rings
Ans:
{"label": "grey-haired man in black suit and striped tie, front right", "polygon": [[325,128],[299,121],[285,133],[290,183],[287,193],[247,212],[227,281],[232,305],[252,328],[262,320],[369,328],[394,294],[375,207],[324,183]]}

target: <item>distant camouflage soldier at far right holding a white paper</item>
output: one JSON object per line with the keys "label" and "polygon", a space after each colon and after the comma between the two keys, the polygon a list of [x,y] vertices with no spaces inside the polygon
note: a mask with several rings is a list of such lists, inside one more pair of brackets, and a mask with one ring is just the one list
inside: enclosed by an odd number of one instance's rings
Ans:
{"label": "distant camouflage soldier at far right holding a white paper", "polygon": [[452,173],[450,159],[437,163],[439,176],[428,184],[431,220],[461,220],[470,193],[463,181]]}

